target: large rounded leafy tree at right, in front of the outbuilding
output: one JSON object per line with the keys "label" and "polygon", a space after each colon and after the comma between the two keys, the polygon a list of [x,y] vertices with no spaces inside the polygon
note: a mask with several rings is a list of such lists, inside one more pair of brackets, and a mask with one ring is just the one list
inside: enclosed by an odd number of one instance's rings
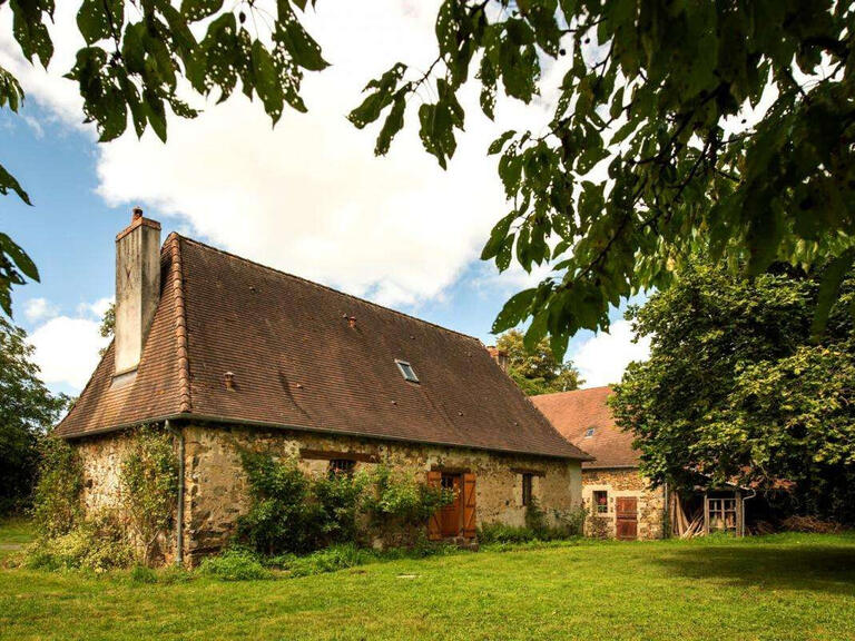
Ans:
{"label": "large rounded leafy tree at right, in front of the outbuilding", "polygon": [[612,407],[655,483],[736,480],[855,523],[855,274],[815,341],[824,276],[780,267],[735,279],[695,262],[628,310],[651,354],[627,368]]}

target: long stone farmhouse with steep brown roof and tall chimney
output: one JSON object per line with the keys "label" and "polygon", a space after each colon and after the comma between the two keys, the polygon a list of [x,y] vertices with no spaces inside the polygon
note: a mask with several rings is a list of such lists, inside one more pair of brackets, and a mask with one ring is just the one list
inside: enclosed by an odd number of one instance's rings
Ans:
{"label": "long stone farmhouse with steep brown roof and tall chimney", "polygon": [[[176,234],[135,209],[116,239],[115,338],[56,434],[79,451],[88,512],[119,505],[130,428],[174,434],[167,559],[220,549],[248,507],[239,448],[311,473],[384,462],[458,490],[431,539],[522,525],[582,497],[582,462],[471,336]],[[590,474],[590,470],[587,472]]]}

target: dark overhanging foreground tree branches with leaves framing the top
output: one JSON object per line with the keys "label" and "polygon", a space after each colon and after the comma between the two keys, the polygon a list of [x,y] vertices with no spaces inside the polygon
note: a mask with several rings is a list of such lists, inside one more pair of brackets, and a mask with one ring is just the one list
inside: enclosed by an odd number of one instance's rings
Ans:
{"label": "dark overhanging foreground tree branches with leaves framing the top", "polygon": [[[137,135],[150,126],[166,139],[167,110],[196,115],[178,98],[181,79],[220,100],[239,88],[274,122],[286,107],[305,110],[303,72],[326,66],[301,26],[306,4],[83,0],[87,46],[69,78],[86,119],[102,140],[129,121]],[[52,0],[0,0],[3,10],[23,55],[47,65]],[[511,208],[482,257],[502,270],[513,260],[554,267],[507,303],[497,333],[530,318],[529,346],[549,334],[560,356],[578,328],[608,326],[609,305],[666,287],[701,239],[749,275],[775,262],[836,260],[827,298],[836,296],[835,276],[855,258],[851,3],[444,0],[435,33],[433,62],[396,63],[351,112],[356,127],[383,121],[376,154],[415,111],[425,150],[445,167],[468,82],[480,85],[492,118],[500,93],[530,103],[547,96],[549,72],[563,73],[549,122],[508,131],[488,150],[499,155]],[[0,70],[0,106],[17,109],[22,97]],[[4,170],[0,190],[27,199]],[[6,237],[0,258],[8,312],[10,284],[38,274]]]}

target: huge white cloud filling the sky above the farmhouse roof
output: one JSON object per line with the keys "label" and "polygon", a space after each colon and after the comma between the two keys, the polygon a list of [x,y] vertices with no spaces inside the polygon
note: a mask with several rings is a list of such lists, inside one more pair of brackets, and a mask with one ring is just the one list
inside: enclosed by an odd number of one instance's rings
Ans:
{"label": "huge white cloud filling the sky above the farmhouse roof", "polygon": [[[332,67],[306,78],[307,115],[286,111],[272,129],[258,102],[235,96],[194,121],[173,119],[167,146],[126,136],[100,148],[99,193],[111,205],[144,203],[175,216],[236,254],[384,304],[441,297],[507,211],[495,158],[485,156],[505,127],[481,116],[469,91],[466,131],[443,171],[419,140],[417,100],[385,158],[373,156],[376,127],[358,131],[345,119],[365,81],[397,56],[415,63],[435,56],[435,14],[433,2],[320,4],[309,30]],[[517,125],[538,112],[500,109]]]}

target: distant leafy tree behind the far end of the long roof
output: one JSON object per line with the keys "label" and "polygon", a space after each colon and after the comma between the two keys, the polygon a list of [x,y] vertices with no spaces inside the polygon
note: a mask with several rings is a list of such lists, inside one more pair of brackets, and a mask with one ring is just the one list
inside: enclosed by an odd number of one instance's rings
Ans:
{"label": "distant leafy tree behind the far end of the long roof", "polygon": [[583,383],[572,363],[556,358],[546,338],[528,349],[522,332],[510,329],[499,336],[495,346],[508,357],[508,375],[529,396],[569,392]]}

